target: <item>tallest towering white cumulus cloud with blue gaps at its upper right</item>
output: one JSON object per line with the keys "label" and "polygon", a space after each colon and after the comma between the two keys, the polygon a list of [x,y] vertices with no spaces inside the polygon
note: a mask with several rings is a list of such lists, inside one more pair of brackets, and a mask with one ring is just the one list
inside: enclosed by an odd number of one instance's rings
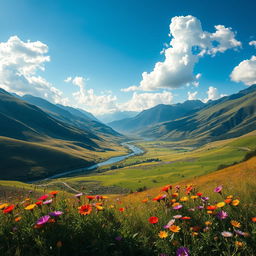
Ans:
{"label": "tallest towering white cumulus cloud with blue gaps at its upper right", "polygon": [[170,24],[172,40],[163,50],[164,61],[157,62],[153,71],[143,72],[138,87],[126,91],[152,91],[160,88],[178,88],[196,80],[194,66],[205,55],[215,56],[241,46],[231,28],[215,26],[215,32],[204,31],[200,20],[191,15],[174,17]]}

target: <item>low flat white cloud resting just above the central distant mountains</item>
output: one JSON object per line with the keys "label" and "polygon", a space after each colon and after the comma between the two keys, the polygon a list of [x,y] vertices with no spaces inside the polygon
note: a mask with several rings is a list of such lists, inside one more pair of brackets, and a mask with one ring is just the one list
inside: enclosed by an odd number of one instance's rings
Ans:
{"label": "low flat white cloud resting just above the central distant mountains", "polygon": [[133,93],[132,98],[119,105],[121,110],[142,111],[158,104],[171,104],[173,95],[171,92],[159,93]]}

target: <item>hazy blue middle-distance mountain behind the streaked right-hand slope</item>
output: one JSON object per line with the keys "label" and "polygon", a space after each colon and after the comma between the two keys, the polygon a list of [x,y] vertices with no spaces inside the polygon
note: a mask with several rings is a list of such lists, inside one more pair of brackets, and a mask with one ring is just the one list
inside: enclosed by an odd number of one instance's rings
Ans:
{"label": "hazy blue middle-distance mountain behind the streaked right-hand slope", "polygon": [[203,106],[204,103],[199,100],[185,101],[184,103],[175,105],[159,104],[153,108],[142,111],[135,117],[114,121],[108,125],[117,131],[131,133],[145,129],[150,125],[175,120],[189,113],[193,113]]}

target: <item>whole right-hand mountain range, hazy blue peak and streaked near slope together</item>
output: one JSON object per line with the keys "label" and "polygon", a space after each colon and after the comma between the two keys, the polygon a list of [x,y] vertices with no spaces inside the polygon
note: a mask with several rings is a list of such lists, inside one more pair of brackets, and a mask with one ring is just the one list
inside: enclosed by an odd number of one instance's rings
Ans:
{"label": "whole right-hand mountain range, hazy blue peak and streaked near slope together", "polygon": [[197,145],[237,137],[255,130],[256,85],[206,104],[186,101],[158,105],[134,118],[109,125],[117,131],[132,132],[143,138],[189,140]]}

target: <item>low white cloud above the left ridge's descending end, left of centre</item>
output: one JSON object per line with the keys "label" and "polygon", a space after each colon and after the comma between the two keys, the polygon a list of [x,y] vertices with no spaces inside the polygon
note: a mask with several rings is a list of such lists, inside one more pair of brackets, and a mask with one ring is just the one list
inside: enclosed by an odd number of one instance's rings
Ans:
{"label": "low white cloud above the left ridge's descending end, left of centre", "polygon": [[108,92],[108,94],[97,95],[93,89],[86,89],[86,79],[84,77],[68,77],[64,81],[67,83],[71,82],[79,88],[78,91],[73,93],[76,107],[81,107],[96,115],[111,113],[118,110],[116,96],[113,96],[111,92]]}

